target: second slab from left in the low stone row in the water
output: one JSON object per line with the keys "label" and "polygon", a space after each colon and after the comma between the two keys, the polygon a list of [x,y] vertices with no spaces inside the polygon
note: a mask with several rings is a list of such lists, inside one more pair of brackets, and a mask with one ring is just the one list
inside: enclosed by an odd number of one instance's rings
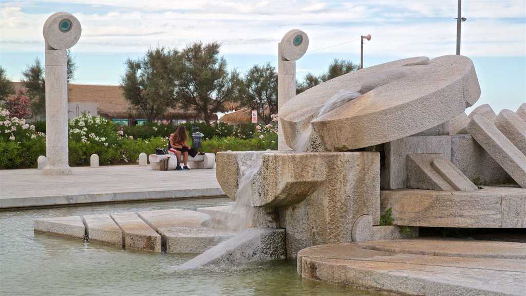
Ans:
{"label": "second slab from left in the low stone row in the water", "polygon": [[83,219],[90,242],[123,246],[123,232],[109,214],[84,215]]}

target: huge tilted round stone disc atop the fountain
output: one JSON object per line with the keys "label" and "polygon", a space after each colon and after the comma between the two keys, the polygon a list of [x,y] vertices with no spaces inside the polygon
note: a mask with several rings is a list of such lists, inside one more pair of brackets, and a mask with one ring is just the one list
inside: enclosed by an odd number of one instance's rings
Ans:
{"label": "huge tilted round stone disc atop the fountain", "polygon": [[[449,121],[478,100],[480,87],[469,58],[448,55],[406,66],[413,61],[364,68],[295,96],[279,112],[287,144],[295,147],[298,131],[335,93],[359,91],[371,77],[381,80],[387,75],[391,80],[310,122],[325,150],[359,149],[401,139]],[[396,70],[407,76],[398,77]]]}

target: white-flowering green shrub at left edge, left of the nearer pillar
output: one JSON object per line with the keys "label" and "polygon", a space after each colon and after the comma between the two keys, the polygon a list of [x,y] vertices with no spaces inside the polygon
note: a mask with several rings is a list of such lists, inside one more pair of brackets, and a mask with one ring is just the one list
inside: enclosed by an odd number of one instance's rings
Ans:
{"label": "white-flowering green shrub at left edge, left of the nearer pillar", "polygon": [[46,152],[45,135],[0,107],[0,151],[0,169],[36,166],[37,157]]}

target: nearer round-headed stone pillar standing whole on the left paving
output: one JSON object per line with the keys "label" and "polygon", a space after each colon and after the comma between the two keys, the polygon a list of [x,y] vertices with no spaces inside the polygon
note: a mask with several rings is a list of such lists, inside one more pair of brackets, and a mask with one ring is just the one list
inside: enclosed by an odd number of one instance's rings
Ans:
{"label": "nearer round-headed stone pillar standing whole on the left paving", "polygon": [[78,19],[57,12],[44,24],[46,51],[46,166],[44,175],[69,175],[67,121],[67,54],[82,28]]}

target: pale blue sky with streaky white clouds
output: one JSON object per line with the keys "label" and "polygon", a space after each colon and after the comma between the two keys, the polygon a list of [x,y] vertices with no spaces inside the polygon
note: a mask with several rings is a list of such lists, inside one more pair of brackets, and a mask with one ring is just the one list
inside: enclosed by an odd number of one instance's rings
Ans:
{"label": "pale blue sky with streaky white clouds", "polygon": [[[255,64],[277,67],[277,44],[290,29],[309,37],[297,79],[325,72],[334,58],[363,66],[401,58],[456,54],[458,0],[222,1],[0,0],[0,65],[19,81],[35,58],[44,63],[42,28],[55,12],[82,26],[71,48],[78,84],[118,85],[125,61],[148,48],[221,43],[220,54],[242,74]],[[526,103],[526,0],[463,0],[460,53],[473,61],[479,101],[495,113]]]}

